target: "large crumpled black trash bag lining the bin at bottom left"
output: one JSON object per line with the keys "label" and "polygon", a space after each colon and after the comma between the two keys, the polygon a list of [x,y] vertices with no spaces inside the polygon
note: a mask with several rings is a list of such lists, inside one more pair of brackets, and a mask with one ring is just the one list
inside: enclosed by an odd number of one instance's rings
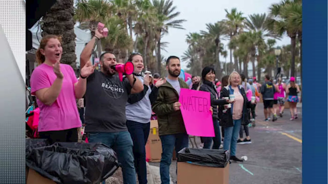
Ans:
{"label": "large crumpled black trash bag lining the bin at bottom left", "polygon": [[119,167],[116,153],[105,144],[77,142],[32,148],[26,165],[63,184],[99,184]]}

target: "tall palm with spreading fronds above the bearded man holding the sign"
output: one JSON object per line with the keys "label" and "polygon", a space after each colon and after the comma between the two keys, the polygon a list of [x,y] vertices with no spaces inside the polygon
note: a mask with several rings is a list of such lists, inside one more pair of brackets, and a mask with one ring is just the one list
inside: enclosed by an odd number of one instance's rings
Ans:
{"label": "tall palm with spreading fronds above the bearded man holding the sign", "polygon": [[[176,6],[173,6],[171,0],[153,0],[153,6],[157,9],[157,14],[161,17],[163,26],[157,30],[157,61],[161,61],[161,38],[165,33],[168,33],[169,28],[184,29],[182,23],[186,20],[175,18],[180,15],[179,11],[175,12]],[[161,63],[157,62],[157,72],[161,71]]]}

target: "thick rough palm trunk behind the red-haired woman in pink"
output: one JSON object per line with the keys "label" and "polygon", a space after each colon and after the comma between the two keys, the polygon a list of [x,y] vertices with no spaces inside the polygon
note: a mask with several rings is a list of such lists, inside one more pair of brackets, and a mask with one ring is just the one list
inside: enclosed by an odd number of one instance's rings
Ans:
{"label": "thick rough palm trunk behind the red-haired woman in pink", "polygon": [[61,63],[70,64],[76,72],[74,1],[57,0],[41,21],[42,36],[60,35],[63,40]]}

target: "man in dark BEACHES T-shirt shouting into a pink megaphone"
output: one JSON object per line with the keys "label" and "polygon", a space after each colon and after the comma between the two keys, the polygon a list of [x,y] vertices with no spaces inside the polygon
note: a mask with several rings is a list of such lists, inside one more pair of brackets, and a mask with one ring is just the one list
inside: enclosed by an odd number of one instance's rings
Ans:
{"label": "man in dark BEACHES T-shirt shouting into a pink megaphone", "polygon": [[[81,67],[90,59],[96,42],[105,36],[103,30],[95,30],[95,35],[81,53]],[[125,105],[129,94],[140,93],[144,88],[143,83],[132,74],[131,67],[133,64],[117,63],[113,53],[103,53],[100,56],[100,71],[95,70],[87,78],[85,95],[85,132],[88,141],[101,142],[113,148],[122,166],[126,184],[135,184],[136,175]],[[132,72],[128,72],[131,69]],[[126,77],[121,78],[123,75]]]}

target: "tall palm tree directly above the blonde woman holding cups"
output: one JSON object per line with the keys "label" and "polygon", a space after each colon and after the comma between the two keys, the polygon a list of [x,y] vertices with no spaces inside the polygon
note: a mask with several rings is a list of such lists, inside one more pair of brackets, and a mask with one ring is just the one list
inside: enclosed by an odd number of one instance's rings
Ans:
{"label": "tall palm tree directly above the blonde woman holding cups", "polygon": [[[243,13],[241,11],[237,12],[236,8],[231,9],[231,12],[228,11],[228,9],[224,9],[226,14],[226,20],[224,22],[227,24],[227,30],[228,30],[228,36],[230,37],[230,41],[235,37],[239,30],[244,27],[243,22],[245,20],[245,17],[243,17]],[[233,45],[230,45],[230,63],[232,64],[232,50],[235,47]],[[235,59],[235,69],[238,71],[238,62]]]}

